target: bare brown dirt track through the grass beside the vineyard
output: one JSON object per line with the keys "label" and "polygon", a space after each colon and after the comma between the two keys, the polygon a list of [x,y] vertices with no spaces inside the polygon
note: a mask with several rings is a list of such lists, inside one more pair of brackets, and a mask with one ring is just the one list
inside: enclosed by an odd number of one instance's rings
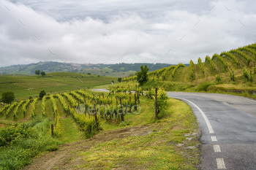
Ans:
{"label": "bare brown dirt track through the grass beside the vineyard", "polygon": [[[127,138],[129,136],[146,136],[152,132],[153,131],[149,125],[121,128],[113,131],[102,131],[91,139],[81,139],[80,142],[62,144],[57,151],[46,152],[39,155],[34,159],[34,162],[30,166],[26,166],[25,169],[40,170],[54,169],[54,167],[58,167],[58,169],[78,169],[76,166],[80,165],[81,161],[84,161],[83,156],[77,157],[78,151],[89,150],[92,146],[99,144],[100,142]],[[124,167],[124,165],[122,165],[122,167],[119,167],[118,169],[129,169],[129,167]]]}

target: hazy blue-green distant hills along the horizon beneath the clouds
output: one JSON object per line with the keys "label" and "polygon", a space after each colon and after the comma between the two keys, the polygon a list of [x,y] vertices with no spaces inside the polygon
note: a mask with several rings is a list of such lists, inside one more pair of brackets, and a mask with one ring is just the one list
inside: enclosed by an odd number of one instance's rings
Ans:
{"label": "hazy blue-green distant hills along the horizon beneath the clouds", "polygon": [[60,63],[56,61],[45,61],[39,63],[30,63],[23,65],[6,66],[0,68],[0,74],[34,74],[35,70],[44,71],[46,73],[52,72],[75,72],[84,74],[99,74],[101,76],[111,77],[127,77],[129,74],[134,74],[140,71],[141,65],[147,65],[152,69],[150,72],[164,67],[169,67],[168,63]]}

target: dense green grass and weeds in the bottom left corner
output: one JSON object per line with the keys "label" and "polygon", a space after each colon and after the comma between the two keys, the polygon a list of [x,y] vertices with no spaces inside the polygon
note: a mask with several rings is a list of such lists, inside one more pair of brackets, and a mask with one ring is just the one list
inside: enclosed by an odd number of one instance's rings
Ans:
{"label": "dense green grass and weeds in the bottom left corner", "polygon": [[48,133],[49,130],[50,120],[42,117],[23,123],[18,128],[0,128],[1,139],[7,142],[1,141],[0,169],[22,169],[40,152],[58,149],[57,145],[61,142],[53,139]]}

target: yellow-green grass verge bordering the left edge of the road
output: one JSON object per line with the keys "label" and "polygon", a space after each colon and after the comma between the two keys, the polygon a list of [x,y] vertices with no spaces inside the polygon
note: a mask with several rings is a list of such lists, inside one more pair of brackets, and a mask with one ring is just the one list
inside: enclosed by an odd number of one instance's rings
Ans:
{"label": "yellow-green grass verge bordering the left edge of the road", "polygon": [[[143,122],[132,123],[132,118],[126,115],[125,123],[128,121],[129,125],[123,128],[128,129],[130,135],[121,138],[116,134],[116,139],[97,142],[86,151],[78,150],[76,157],[83,158],[83,161],[73,168],[197,169],[200,132],[196,117],[192,109],[182,101],[170,98],[167,105],[165,117],[156,120],[156,123],[152,123],[154,112],[150,110],[151,106],[147,106],[148,112],[143,112],[141,117],[134,116]],[[133,128],[142,128],[144,131],[133,133]],[[75,161],[75,158],[72,159]]]}

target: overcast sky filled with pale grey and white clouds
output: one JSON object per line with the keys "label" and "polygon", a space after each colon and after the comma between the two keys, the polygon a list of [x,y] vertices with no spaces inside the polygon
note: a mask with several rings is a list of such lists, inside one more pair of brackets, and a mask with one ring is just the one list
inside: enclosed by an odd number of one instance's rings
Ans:
{"label": "overcast sky filled with pale grey and white clouds", "polygon": [[0,67],[197,63],[256,42],[255,0],[0,1]]}

